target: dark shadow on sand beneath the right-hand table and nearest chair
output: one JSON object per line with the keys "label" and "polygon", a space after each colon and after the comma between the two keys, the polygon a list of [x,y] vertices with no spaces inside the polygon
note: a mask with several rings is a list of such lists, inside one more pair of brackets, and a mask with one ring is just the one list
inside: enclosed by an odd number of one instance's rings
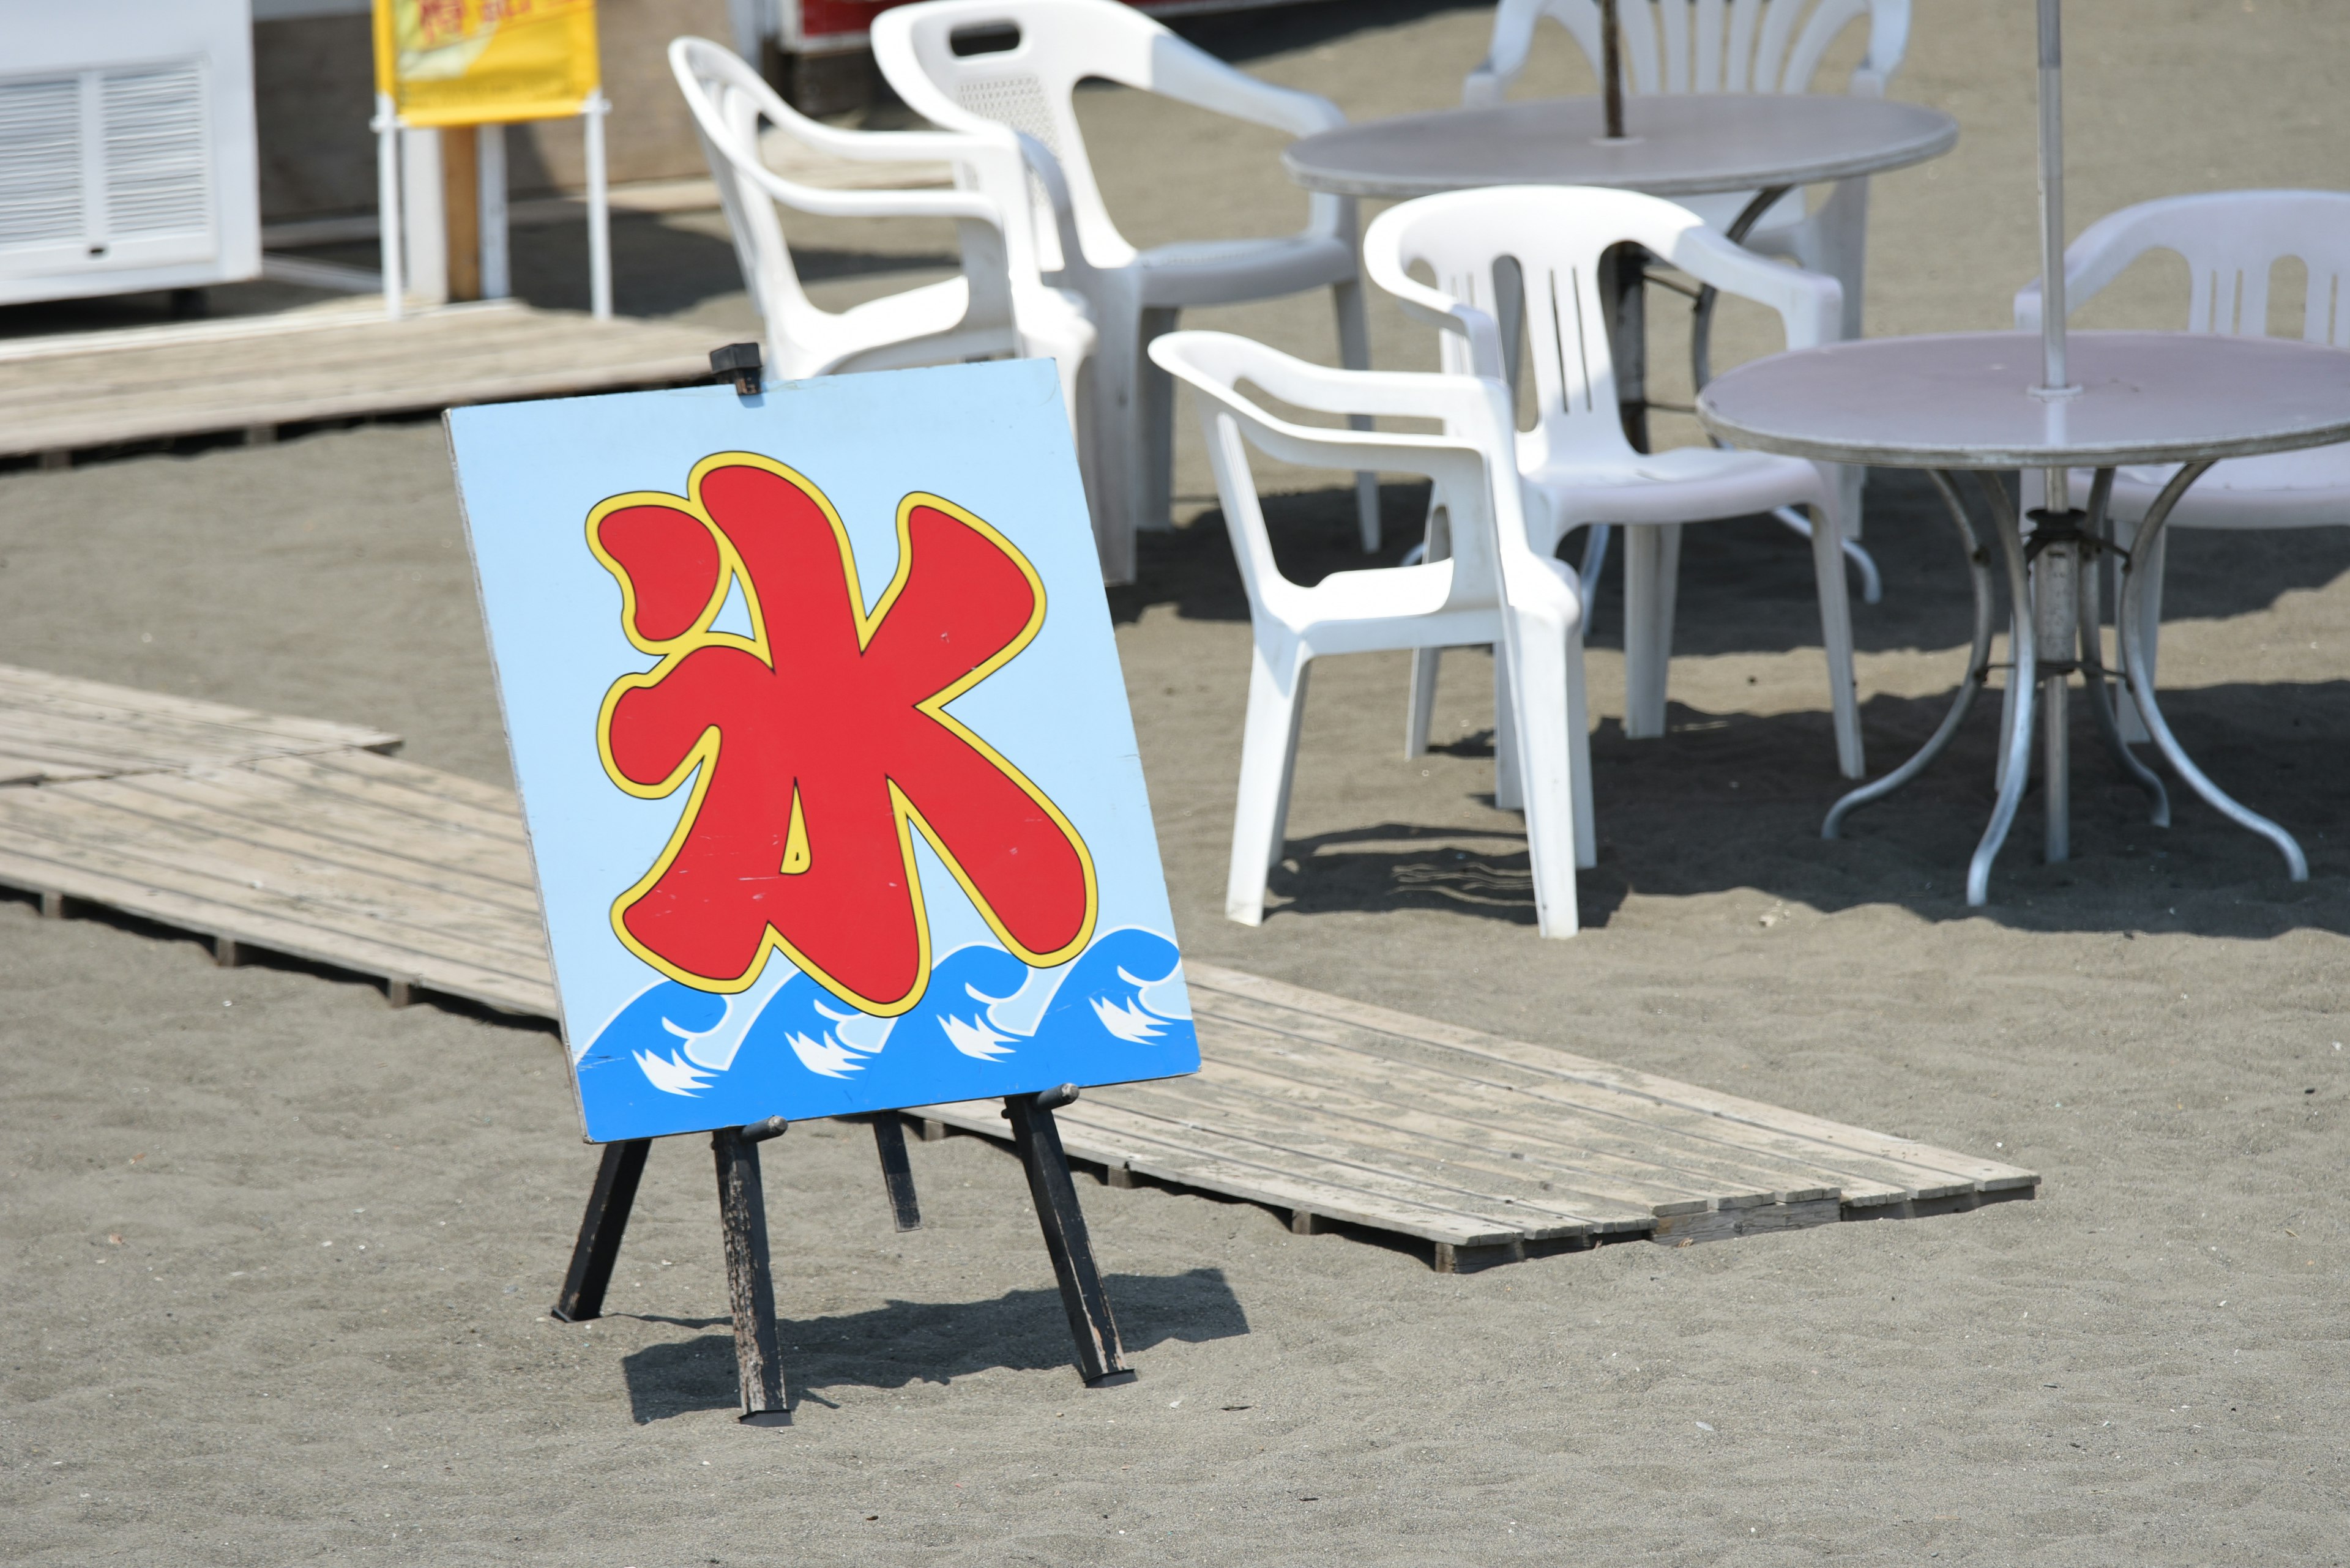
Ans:
{"label": "dark shadow on sand beneath the right-hand table and nearest chair", "polygon": [[[1948,701],[1868,701],[1871,776],[1908,757]],[[1673,705],[1661,741],[1626,741],[1614,719],[1591,733],[1600,863],[1579,877],[1582,924],[1605,926],[1636,889],[1666,898],[1753,889],[1821,912],[1889,903],[1920,919],[1986,917],[2035,931],[2350,931],[2350,790],[2331,762],[2350,733],[2350,682],[2207,686],[2174,693],[2164,710],[2221,788],[2301,839],[2310,882],[2287,882],[2263,839],[2176,778],[2167,778],[2174,825],[2153,827],[2146,799],[2080,719],[2073,858],[2040,858],[2035,780],[1993,870],[1990,905],[1969,910],[1962,879],[1993,804],[1998,696],[1976,703],[1925,778],[1854,813],[1835,842],[1819,837],[1819,823],[1849,785],[1833,771],[1824,712],[1701,715]],[[1490,755],[1490,738],[1448,750]],[[2155,762],[2150,748],[2141,755]],[[1285,849],[1267,919],[1445,910],[1535,924],[1523,835],[1382,823]]]}

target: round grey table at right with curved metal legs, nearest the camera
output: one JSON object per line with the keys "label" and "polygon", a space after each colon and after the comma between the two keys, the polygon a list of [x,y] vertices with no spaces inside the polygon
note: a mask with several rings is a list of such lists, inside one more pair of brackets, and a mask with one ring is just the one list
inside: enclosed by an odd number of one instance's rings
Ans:
{"label": "round grey table at right with curved metal legs, nearest the camera", "polygon": [[[2023,799],[2035,684],[2047,715],[2047,858],[2063,860],[2070,853],[2066,691],[2073,672],[2084,677],[2106,745],[2153,797],[2153,820],[2169,823],[2162,780],[2122,743],[2108,701],[2106,679],[2113,672],[2103,668],[2096,632],[2099,555],[2120,559],[2120,679],[2155,748],[2211,806],[2275,844],[2294,882],[2305,882],[2310,870],[2301,844],[2214,785],[2162,719],[2138,656],[2146,578],[2131,571],[2131,559],[2155,548],[2171,508],[2214,461],[2350,440],[2350,353],[2289,339],[2183,331],[2077,331],[2068,343],[2070,374],[2080,383],[2070,397],[2033,390],[2040,381],[2040,334],[2023,331],[1805,348],[1725,371],[1699,395],[1697,416],[1706,430],[1737,447],[1828,463],[1929,470],[1974,567],[1974,651],[1950,712],[1915,757],[1835,802],[1821,832],[1833,839],[1852,809],[1892,795],[1925,771],[1950,743],[1974,691],[1990,677],[1990,559],[1979,548],[1953,473],[1972,468],[2007,557],[2014,670],[2030,670],[2035,679],[2007,682],[2000,792],[1967,867],[1967,903],[1981,905],[1988,898],[1990,863]],[[2113,470],[2122,463],[2181,463],[2148,508],[2129,550],[2117,550],[2106,527]],[[2035,510],[2026,541],[2007,491],[1988,473],[2000,468],[2094,468],[2096,484],[2087,510]],[[2070,501],[2066,487],[2047,494]]]}

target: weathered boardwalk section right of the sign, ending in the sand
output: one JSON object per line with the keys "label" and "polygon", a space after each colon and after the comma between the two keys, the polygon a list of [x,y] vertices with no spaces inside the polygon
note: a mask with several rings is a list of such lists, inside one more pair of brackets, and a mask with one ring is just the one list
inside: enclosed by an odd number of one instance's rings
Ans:
{"label": "weathered boardwalk section right of the sign, ending in the sand", "polygon": [[[1415,1237],[1438,1269],[1600,1241],[1671,1246],[2028,1199],[1972,1154],[1551,1046],[1184,961],[1196,1077],[1088,1088],[1072,1159],[1285,1208],[1290,1229]],[[1008,1140],[992,1100],[912,1112]],[[928,1133],[931,1128],[926,1128]]]}

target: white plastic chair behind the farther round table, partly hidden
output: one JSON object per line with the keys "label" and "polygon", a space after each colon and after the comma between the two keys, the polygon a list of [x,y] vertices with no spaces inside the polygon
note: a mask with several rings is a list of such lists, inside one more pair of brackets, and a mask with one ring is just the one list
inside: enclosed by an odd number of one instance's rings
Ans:
{"label": "white plastic chair behind the farther round table, partly hidden", "polygon": [[[1866,16],[1868,47],[1845,92],[1882,99],[1908,49],[1911,0],[1622,0],[1617,14],[1626,94],[1810,92],[1828,47]],[[1598,0],[1502,0],[1485,61],[1462,82],[1462,103],[1504,99],[1525,71],[1535,24],[1544,16],[1560,21],[1591,59],[1591,71],[1600,71]],[[1739,190],[1680,202],[1713,228],[1730,228],[1753,197],[1753,190]],[[1868,176],[1838,181],[1810,214],[1802,190],[1788,190],[1744,244],[1833,275],[1845,284],[1840,336],[1861,336]]]}

